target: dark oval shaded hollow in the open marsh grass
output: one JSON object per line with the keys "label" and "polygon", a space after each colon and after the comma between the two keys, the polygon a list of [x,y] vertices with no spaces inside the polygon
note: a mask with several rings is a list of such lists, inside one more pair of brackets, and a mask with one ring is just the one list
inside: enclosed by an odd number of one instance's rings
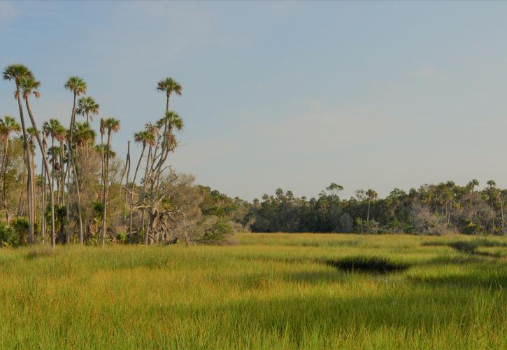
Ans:
{"label": "dark oval shaded hollow in the open marsh grass", "polygon": [[327,259],[323,262],[326,265],[345,271],[375,272],[380,274],[385,274],[387,272],[401,272],[410,267],[410,264],[406,262],[393,262],[387,258],[363,255],[338,259]]}

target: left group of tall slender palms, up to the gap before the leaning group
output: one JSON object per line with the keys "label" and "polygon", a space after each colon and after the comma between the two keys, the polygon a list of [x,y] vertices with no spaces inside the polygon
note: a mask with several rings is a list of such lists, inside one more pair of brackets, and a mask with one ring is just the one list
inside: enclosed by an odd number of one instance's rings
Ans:
{"label": "left group of tall slender palms, up to the gap before the leaning group", "polygon": [[[80,203],[80,185],[78,171],[75,161],[75,152],[83,151],[85,148],[87,155],[89,154],[90,145],[93,144],[95,132],[90,127],[90,121],[92,116],[99,113],[99,104],[94,101],[92,97],[86,96],[80,97],[87,92],[87,85],[85,80],[77,76],[71,76],[66,81],[64,87],[70,90],[73,94],[73,104],[71,111],[71,124],[69,130],[67,130],[57,119],[50,119],[43,123],[42,129],[39,130],[34,113],[30,105],[30,97],[40,97],[41,94],[38,88],[41,83],[36,80],[34,73],[26,66],[22,64],[11,64],[6,67],[3,71],[3,78],[10,80],[15,83],[14,97],[17,101],[21,127],[17,124],[14,118],[6,116],[0,123],[0,134],[1,138],[6,141],[4,148],[3,160],[0,168],[0,188],[4,193],[5,186],[5,166],[7,164],[8,157],[8,140],[10,135],[17,132],[22,132],[23,149],[24,149],[24,162],[27,173],[27,215],[28,215],[28,241],[29,243],[34,242],[34,222],[35,222],[35,173],[34,173],[34,139],[38,145],[38,149],[42,156],[42,167],[41,167],[41,179],[42,179],[42,208],[43,213],[41,214],[41,236],[43,242],[45,241],[45,214],[46,214],[46,191],[49,191],[49,208],[50,213],[50,236],[51,245],[55,246],[55,205],[62,206],[66,202],[66,242],[70,241],[70,190],[76,191],[76,199],[78,204],[78,240],[80,244],[83,244],[83,217]],[[24,108],[23,104],[24,102]],[[27,111],[29,116],[31,127],[27,125],[24,111]],[[85,123],[76,123],[76,114],[86,118]],[[120,122],[115,118],[101,118],[100,130],[101,130],[101,146],[97,147],[98,151],[101,151],[101,164],[102,164],[102,178],[101,183],[103,185],[103,207],[105,218],[105,209],[107,201],[107,186],[108,186],[108,166],[109,166],[109,153],[106,151],[104,156],[104,149],[110,150],[110,138],[113,132],[117,132],[120,128]],[[103,144],[103,136],[107,134],[107,146]],[[47,149],[47,138],[50,137],[50,148]],[[56,145],[56,142],[59,145]],[[76,150],[75,150],[76,148]],[[48,156],[50,157],[48,159]],[[73,186],[71,186],[71,180]],[[55,185],[57,189],[57,198],[55,201]],[[67,188],[67,196],[65,196],[65,189]],[[3,196],[3,208],[6,206],[6,197]],[[55,203],[56,202],[56,203]],[[103,220],[102,224],[102,242],[104,242],[104,236],[106,232],[106,222]]]}

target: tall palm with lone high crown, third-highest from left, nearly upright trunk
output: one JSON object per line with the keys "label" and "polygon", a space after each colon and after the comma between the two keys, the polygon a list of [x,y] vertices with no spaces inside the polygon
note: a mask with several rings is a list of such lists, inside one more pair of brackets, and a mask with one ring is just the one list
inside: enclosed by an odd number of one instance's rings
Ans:
{"label": "tall palm with lone high crown, third-highest from left, nearly upright trunk", "polygon": [[[74,132],[74,123],[76,123],[76,98],[82,94],[86,93],[86,82],[82,78],[78,76],[71,76],[69,80],[66,81],[64,87],[67,90],[71,90],[73,92],[73,104],[72,104],[72,114],[71,114],[71,127],[69,127],[69,163],[73,170],[74,181],[76,181],[76,194],[78,195],[78,218],[79,218],[79,243],[83,244],[83,218],[81,215],[81,196],[79,191],[79,179],[78,172],[76,171],[76,165],[74,164],[73,156],[72,156],[72,145],[73,145],[73,132]],[[67,165],[69,167],[69,164]],[[69,200],[67,201],[67,218],[69,219]],[[69,243],[69,242],[67,242]]]}

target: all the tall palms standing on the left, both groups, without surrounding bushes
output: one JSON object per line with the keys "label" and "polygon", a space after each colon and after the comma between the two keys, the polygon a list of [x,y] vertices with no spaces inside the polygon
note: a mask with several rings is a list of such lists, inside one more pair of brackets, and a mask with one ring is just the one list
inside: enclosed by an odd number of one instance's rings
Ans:
{"label": "all the tall palms standing on the left, both groups, without surrounding bushes", "polygon": [[[47,216],[50,219],[50,242],[53,247],[57,242],[57,232],[55,232],[57,223],[60,230],[59,241],[63,241],[62,237],[64,236],[64,241],[69,244],[71,237],[76,237],[72,235],[72,230],[77,230],[77,240],[79,244],[84,244],[85,230],[90,233],[90,221],[88,217],[83,218],[82,191],[84,185],[81,182],[85,179],[80,179],[82,176],[80,174],[83,173],[85,167],[83,158],[86,160],[94,155],[94,157],[100,158],[101,163],[100,180],[97,173],[94,173],[97,175],[93,176],[97,176],[94,179],[97,179],[97,185],[100,181],[101,186],[100,193],[95,193],[98,200],[101,200],[101,218],[99,230],[96,232],[100,232],[100,243],[103,246],[106,244],[108,232],[106,224],[106,220],[109,221],[108,217],[110,217],[107,215],[108,198],[110,197],[110,188],[113,186],[112,176],[114,176],[110,174],[110,162],[115,158],[115,153],[111,149],[111,138],[120,130],[120,121],[115,118],[101,118],[99,124],[101,141],[99,145],[95,146],[96,133],[92,129],[91,123],[94,116],[99,114],[100,106],[92,97],[86,95],[87,83],[83,78],[71,76],[64,84],[64,88],[72,94],[71,123],[68,129],[55,118],[51,118],[41,125],[36,123],[30,99],[41,96],[39,92],[41,83],[36,80],[30,69],[22,64],[11,64],[4,69],[3,78],[15,83],[14,97],[19,108],[20,125],[17,124],[15,118],[9,116],[0,120],[0,138],[6,140],[0,167],[0,193],[5,193],[8,140],[13,134],[21,133],[24,155],[23,176],[27,186],[29,243],[34,242],[34,230],[36,230],[35,179],[37,178],[41,180],[40,233],[43,243],[45,242]],[[124,202],[123,212],[129,214],[128,216],[123,215],[123,223],[124,225],[128,223],[131,238],[134,232],[133,213],[136,212],[136,218],[139,218],[138,225],[136,225],[137,232],[143,233],[146,244],[158,241],[159,223],[165,222],[169,217],[176,218],[178,211],[184,216],[180,209],[171,208],[171,205],[168,204],[166,190],[171,181],[164,177],[166,169],[169,168],[166,166],[166,159],[169,153],[178,146],[175,132],[183,128],[183,120],[177,113],[169,110],[169,102],[173,95],[181,95],[182,87],[172,78],[166,78],[157,83],[157,90],[166,96],[164,116],[156,123],[146,123],[143,130],[134,134],[134,141],[136,144],[140,144],[142,149],[133,179],[129,179],[130,141],[127,143],[127,160],[124,162],[119,183],[120,195]],[[25,118],[26,114],[29,117],[29,122]],[[76,116],[82,116],[85,121],[76,120]],[[38,146],[42,158],[40,177],[36,176],[34,172],[35,146]],[[115,164],[117,163],[115,162]],[[144,165],[143,174],[140,171],[142,165]],[[123,183],[125,175],[126,181]],[[138,182],[140,185],[137,185]],[[118,188],[117,181],[114,185],[115,188]],[[122,190],[124,190],[124,195],[122,195]],[[5,209],[6,195],[2,197],[2,206]],[[46,200],[49,203],[46,203]],[[72,216],[71,211],[73,211]],[[122,217],[121,211],[122,209],[118,211],[119,218]],[[75,225],[71,226],[71,218]]]}

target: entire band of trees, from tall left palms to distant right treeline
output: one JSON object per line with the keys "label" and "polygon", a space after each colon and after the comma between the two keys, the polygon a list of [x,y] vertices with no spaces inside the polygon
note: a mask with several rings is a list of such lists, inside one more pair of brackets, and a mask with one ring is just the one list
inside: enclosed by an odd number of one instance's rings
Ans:
{"label": "entire band of trees, from tall left palms to distant right treeline", "polygon": [[[159,118],[133,135],[141,155],[117,155],[111,139],[116,118],[100,118],[100,106],[87,95],[85,80],[69,78],[68,127],[57,119],[37,123],[30,99],[41,97],[41,83],[26,66],[3,71],[15,87],[19,120],[0,119],[0,241],[2,246],[139,243],[221,244],[238,230],[252,232],[357,232],[417,235],[505,235],[507,190],[477,180],[395,188],[385,198],[357,190],[342,199],[343,186],[331,183],[317,197],[274,195],[247,202],[194,184],[169,159],[178,148],[183,118],[171,110],[182,87],[172,78],[157,83],[164,95]],[[27,118],[28,116],[28,118]],[[99,135],[99,136],[97,136]],[[99,139],[99,141],[97,141]],[[124,157],[124,158],[122,158]],[[36,164],[36,159],[40,165]]]}

